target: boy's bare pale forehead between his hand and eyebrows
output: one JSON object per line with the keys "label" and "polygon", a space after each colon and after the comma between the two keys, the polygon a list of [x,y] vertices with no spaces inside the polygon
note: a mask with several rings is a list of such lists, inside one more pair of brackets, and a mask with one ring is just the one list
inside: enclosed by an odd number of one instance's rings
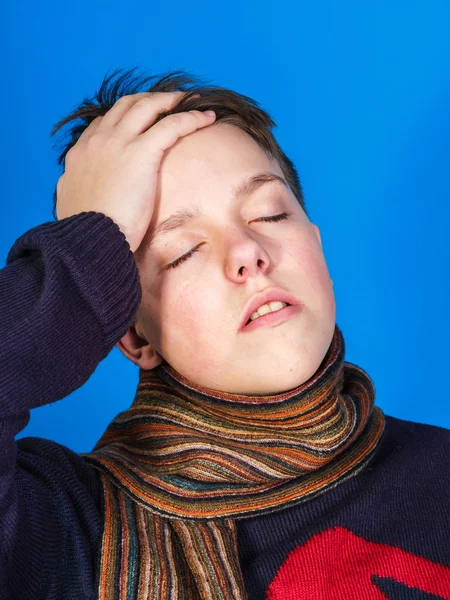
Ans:
{"label": "boy's bare pale forehead between his hand and eyebrows", "polygon": [[174,228],[189,223],[187,213],[220,218],[220,211],[244,197],[236,200],[242,184],[261,173],[285,179],[278,163],[234,125],[217,123],[180,138],[161,161],[153,216],[140,252],[164,242],[166,230],[172,235]]}

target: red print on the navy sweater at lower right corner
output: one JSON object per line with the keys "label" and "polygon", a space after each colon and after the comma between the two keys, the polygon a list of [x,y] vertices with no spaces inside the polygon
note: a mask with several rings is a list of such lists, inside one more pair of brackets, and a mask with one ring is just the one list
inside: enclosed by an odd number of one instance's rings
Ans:
{"label": "red print on the navy sweater at lower right corner", "polygon": [[334,527],[289,554],[266,600],[413,600],[424,592],[450,600],[450,568]]}

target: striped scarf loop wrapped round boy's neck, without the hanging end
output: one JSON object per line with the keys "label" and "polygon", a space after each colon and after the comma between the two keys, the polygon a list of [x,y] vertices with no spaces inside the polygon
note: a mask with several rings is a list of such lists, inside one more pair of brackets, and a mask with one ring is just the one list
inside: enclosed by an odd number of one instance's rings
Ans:
{"label": "striped scarf loop wrapped round boy's neck, without the hanging end", "polygon": [[[141,371],[131,407],[116,417],[93,455],[162,516],[249,516],[323,491],[368,460],[384,428],[374,387],[344,363],[336,326],[319,369],[271,396],[202,388],[168,365]],[[106,461],[106,462],[104,462]]]}

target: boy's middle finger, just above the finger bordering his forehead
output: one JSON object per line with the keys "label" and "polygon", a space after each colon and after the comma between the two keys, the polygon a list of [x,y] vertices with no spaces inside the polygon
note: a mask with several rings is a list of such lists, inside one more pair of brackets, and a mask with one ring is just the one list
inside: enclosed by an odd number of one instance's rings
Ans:
{"label": "boy's middle finger, just above the finger bordering his forehead", "polygon": [[155,123],[160,113],[171,110],[184,94],[186,92],[157,92],[139,98],[117,124],[117,133],[126,140],[134,140]]}

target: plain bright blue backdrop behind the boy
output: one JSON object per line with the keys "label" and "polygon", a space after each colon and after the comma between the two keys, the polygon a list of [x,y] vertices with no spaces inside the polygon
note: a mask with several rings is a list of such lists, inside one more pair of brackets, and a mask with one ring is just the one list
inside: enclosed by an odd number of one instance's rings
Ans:
{"label": "plain bright blue backdrop behind the boy", "polygon": [[[276,121],[321,230],[346,360],[376,403],[450,428],[449,31],[447,0],[3,4],[1,265],[53,220],[53,125],[116,68],[188,70]],[[87,452],[137,380],[115,348],[18,437]]]}

